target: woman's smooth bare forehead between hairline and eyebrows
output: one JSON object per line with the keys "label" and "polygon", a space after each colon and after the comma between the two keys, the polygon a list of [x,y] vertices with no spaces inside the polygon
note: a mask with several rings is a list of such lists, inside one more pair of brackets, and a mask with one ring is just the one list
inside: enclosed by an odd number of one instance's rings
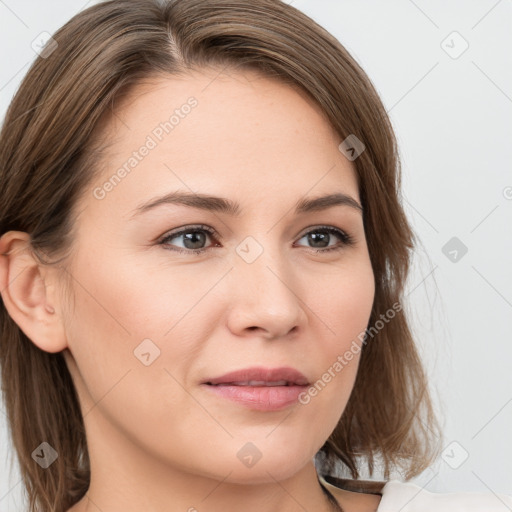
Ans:
{"label": "woman's smooth bare forehead between hairline and eyebrows", "polygon": [[255,71],[154,77],[116,104],[104,137],[111,146],[94,185],[124,169],[109,201],[140,203],[177,188],[296,200],[341,187],[358,197],[354,167],[320,107]]}

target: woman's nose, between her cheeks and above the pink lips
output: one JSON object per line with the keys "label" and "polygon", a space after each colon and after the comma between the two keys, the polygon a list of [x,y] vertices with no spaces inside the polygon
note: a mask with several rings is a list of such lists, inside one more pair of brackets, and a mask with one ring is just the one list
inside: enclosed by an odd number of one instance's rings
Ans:
{"label": "woman's nose, between her cheeks and above the pink lips", "polygon": [[234,260],[228,275],[231,332],[277,339],[302,329],[307,320],[304,290],[285,256],[263,250],[251,263],[238,256]]}

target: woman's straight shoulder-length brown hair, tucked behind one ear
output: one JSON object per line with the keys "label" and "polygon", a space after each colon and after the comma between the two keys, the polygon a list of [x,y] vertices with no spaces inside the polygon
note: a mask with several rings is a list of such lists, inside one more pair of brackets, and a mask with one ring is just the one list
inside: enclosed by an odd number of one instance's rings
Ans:
{"label": "woman's straight shoulder-length brown hair, tucked behind one ear", "polygon": [[[205,66],[259,70],[300,88],[340,136],[363,141],[354,160],[375,275],[369,326],[400,303],[414,234],[400,200],[396,140],[364,71],[325,29],[278,0],[112,0],[72,18],[38,57],[0,133],[0,234],[30,234],[53,258],[73,243],[74,205],[99,172],[98,134],[114,100],[141,81]],[[67,510],[89,486],[90,466],[78,398],[62,353],[40,350],[0,311],[2,390],[30,510]],[[437,457],[440,428],[426,375],[400,308],[364,344],[353,392],[317,454],[323,474],[360,476],[360,458],[384,478],[406,479]],[[31,453],[47,441],[58,452],[45,470]]]}

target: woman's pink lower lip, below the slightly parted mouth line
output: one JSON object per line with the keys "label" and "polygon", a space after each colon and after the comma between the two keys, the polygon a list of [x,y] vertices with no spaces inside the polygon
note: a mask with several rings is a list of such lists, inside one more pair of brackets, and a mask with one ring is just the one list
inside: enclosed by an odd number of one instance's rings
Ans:
{"label": "woman's pink lower lip, below the slightly parted mouth line", "polygon": [[204,384],[218,396],[257,411],[277,411],[297,403],[308,386],[229,386]]}

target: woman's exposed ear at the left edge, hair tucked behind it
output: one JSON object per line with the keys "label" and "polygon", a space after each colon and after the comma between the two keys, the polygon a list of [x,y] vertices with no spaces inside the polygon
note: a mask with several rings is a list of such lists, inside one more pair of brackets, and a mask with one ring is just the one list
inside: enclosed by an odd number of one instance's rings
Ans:
{"label": "woman's exposed ear at the left edge, hair tucked behind it", "polygon": [[30,235],[7,231],[0,237],[0,291],[9,316],[45,352],[60,352],[67,339],[57,304],[55,269],[43,266]]}

